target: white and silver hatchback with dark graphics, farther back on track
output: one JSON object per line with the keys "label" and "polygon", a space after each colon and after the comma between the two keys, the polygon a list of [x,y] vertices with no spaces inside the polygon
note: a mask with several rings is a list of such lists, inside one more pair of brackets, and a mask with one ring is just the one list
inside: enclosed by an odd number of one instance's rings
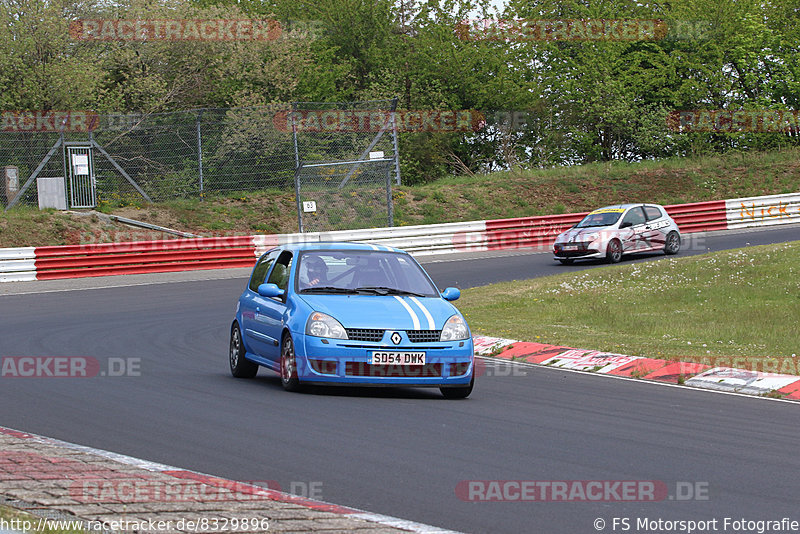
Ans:
{"label": "white and silver hatchback with dark graphics, farther back on track", "polygon": [[664,251],[677,254],[681,233],[675,221],[658,204],[618,204],[596,209],[581,222],[556,237],[555,259],[606,258],[617,263],[623,254]]}

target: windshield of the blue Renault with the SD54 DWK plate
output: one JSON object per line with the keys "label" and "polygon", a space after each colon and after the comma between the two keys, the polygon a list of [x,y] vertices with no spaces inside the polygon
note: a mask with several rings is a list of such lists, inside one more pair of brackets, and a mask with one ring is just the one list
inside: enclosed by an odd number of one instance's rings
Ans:
{"label": "windshield of the blue Renault with the SD54 DWK plate", "polygon": [[436,297],[436,287],[409,255],[389,251],[312,250],[297,265],[300,293]]}

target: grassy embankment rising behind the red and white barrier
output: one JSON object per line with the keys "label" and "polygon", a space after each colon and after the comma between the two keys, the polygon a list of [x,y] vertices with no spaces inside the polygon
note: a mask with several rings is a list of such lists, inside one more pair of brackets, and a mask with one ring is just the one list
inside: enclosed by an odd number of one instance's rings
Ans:
{"label": "grassy embankment rising behind the red and white barrier", "polygon": [[[678,204],[800,191],[800,149],[676,158],[640,163],[594,163],[553,169],[514,170],[460,176],[394,189],[395,224],[433,224],[584,211],[613,202]],[[361,195],[376,197],[362,192]],[[364,227],[356,208],[365,198],[348,198],[352,213],[337,223]],[[325,218],[320,206],[320,217]],[[297,231],[294,192],[262,191],[147,204],[141,199],[104,200],[98,209],[202,235]],[[362,209],[362,211],[364,211]],[[373,220],[381,220],[375,217]],[[320,226],[325,227],[322,221]],[[368,225],[367,225],[368,226]],[[122,233],[119,233],[122,232]],[[0,247],[130,241],[160,233],[109,226],[36,208],[0,211]]]}

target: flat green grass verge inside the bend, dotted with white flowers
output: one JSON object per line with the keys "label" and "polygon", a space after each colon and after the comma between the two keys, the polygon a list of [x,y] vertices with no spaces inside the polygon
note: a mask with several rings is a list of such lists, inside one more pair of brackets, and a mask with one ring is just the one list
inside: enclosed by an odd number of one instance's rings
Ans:
{"label": "flat green grass verge inside the bend, dotted with white flowers", "polygon": [[800,241],[600,267],[465,290],[473,332],[707,362],[800,361]]}

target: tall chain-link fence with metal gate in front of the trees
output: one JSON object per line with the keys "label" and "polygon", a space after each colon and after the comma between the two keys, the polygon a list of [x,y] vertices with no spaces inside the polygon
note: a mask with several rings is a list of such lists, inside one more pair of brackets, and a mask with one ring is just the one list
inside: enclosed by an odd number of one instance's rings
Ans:
{"label": "tall chain-link fence with metal gate in front of the trees", "polygon": [[[6,209],[35,206],[37,179],[62,177],[67,207],[91,207],[76,204],[69,194],[81,176],[76,173],[84,172],[78,166],[82,160],[76,157],[90,147],[86,176],[92,193],[96,192],[91,196],[96,204],[113,207],[238,192],[286,192],[300,186],[303,199],[316,200],[319,206],[317,212],[309,212],[316,216],[308,220],[306,231],[385,226],[391,222],[386,173],[391,170],[388,159],[395,158],[396,163],[394,131],[390,129],[370,147],[378,134],[370,131],[370,126],[365,131],[347,131],[321,113],[390,109],[391,102],[381,101],[147,115],[84,113],[80,120],[75,120],[75,112],[72,116],[5,113],[0,129],[0,170],[6,170],[6,175],[13,172],[17,183],[10,192],[0,184],[0,203]],[[314,119],[328,122],[314,126],[298,121],[293,110],[313,111],[319,114]],[[65,119],[60,121],[62,116]],[[383,157],[370,160],[369,152],[381,151]],[[338,165],[345,161],[356,163]],[[315,166],[320,163],[324,165]],[[333,183],[335,189],[330,186]],[[329,194],[321,194],[323,191]],[[348,209],[340,209],[344,204]],[[299,209],[301,205],[298,202]],[[356,205],[360,206],[357,211]],[[306,220],[299,218],[301,225]]]}

